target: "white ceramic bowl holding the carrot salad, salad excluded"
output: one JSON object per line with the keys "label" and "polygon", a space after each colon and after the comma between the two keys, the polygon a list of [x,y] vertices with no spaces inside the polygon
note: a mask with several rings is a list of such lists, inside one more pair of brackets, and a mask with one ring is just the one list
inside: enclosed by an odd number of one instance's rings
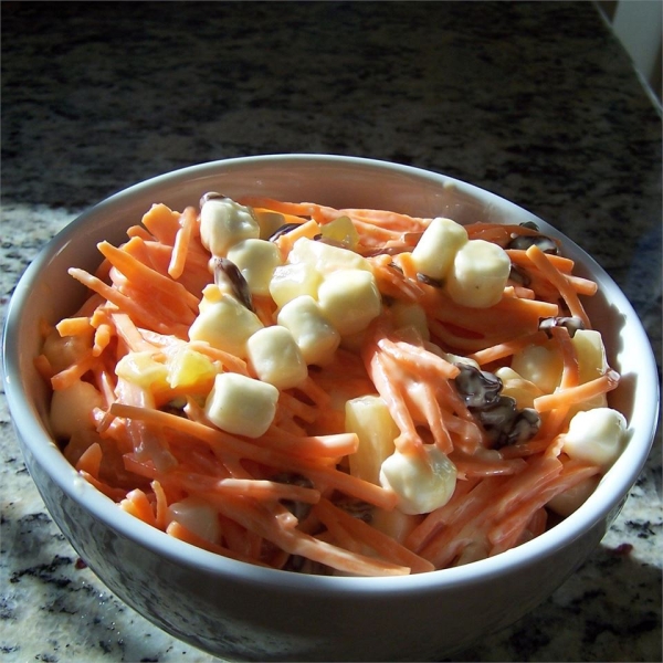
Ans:
{"label": "white ceramic bowl holding the carrot salad, salad excluded", "polygon": [[[71,266],[93,269],[96,243],[120,242],[152,202],[196,204],[207,191],[264,194],[335,207],[372,207],[459,222],[535,221],[564,241],[599,293],[587,303],[611,365],[612,404],[630,422],[622,456],[587,503],[518,548],[464,567],[410,577],[312,577],[214,556],[122,512],[80,478],[44,427],[48,392],[32,360],[38,320],[82,301]],[[95,573],[172,635],[229,659],[424,660],[449,655],[548,597],[598,546],[638,477],[657,415],[655,364],[631,305],[582,250],[540,219],[492,193],[406,166],[330,156],[230,159],[178,170],[117,193],[65,228],[27,270],[10,304],[6,390],[25,464],[53,517]]]}

